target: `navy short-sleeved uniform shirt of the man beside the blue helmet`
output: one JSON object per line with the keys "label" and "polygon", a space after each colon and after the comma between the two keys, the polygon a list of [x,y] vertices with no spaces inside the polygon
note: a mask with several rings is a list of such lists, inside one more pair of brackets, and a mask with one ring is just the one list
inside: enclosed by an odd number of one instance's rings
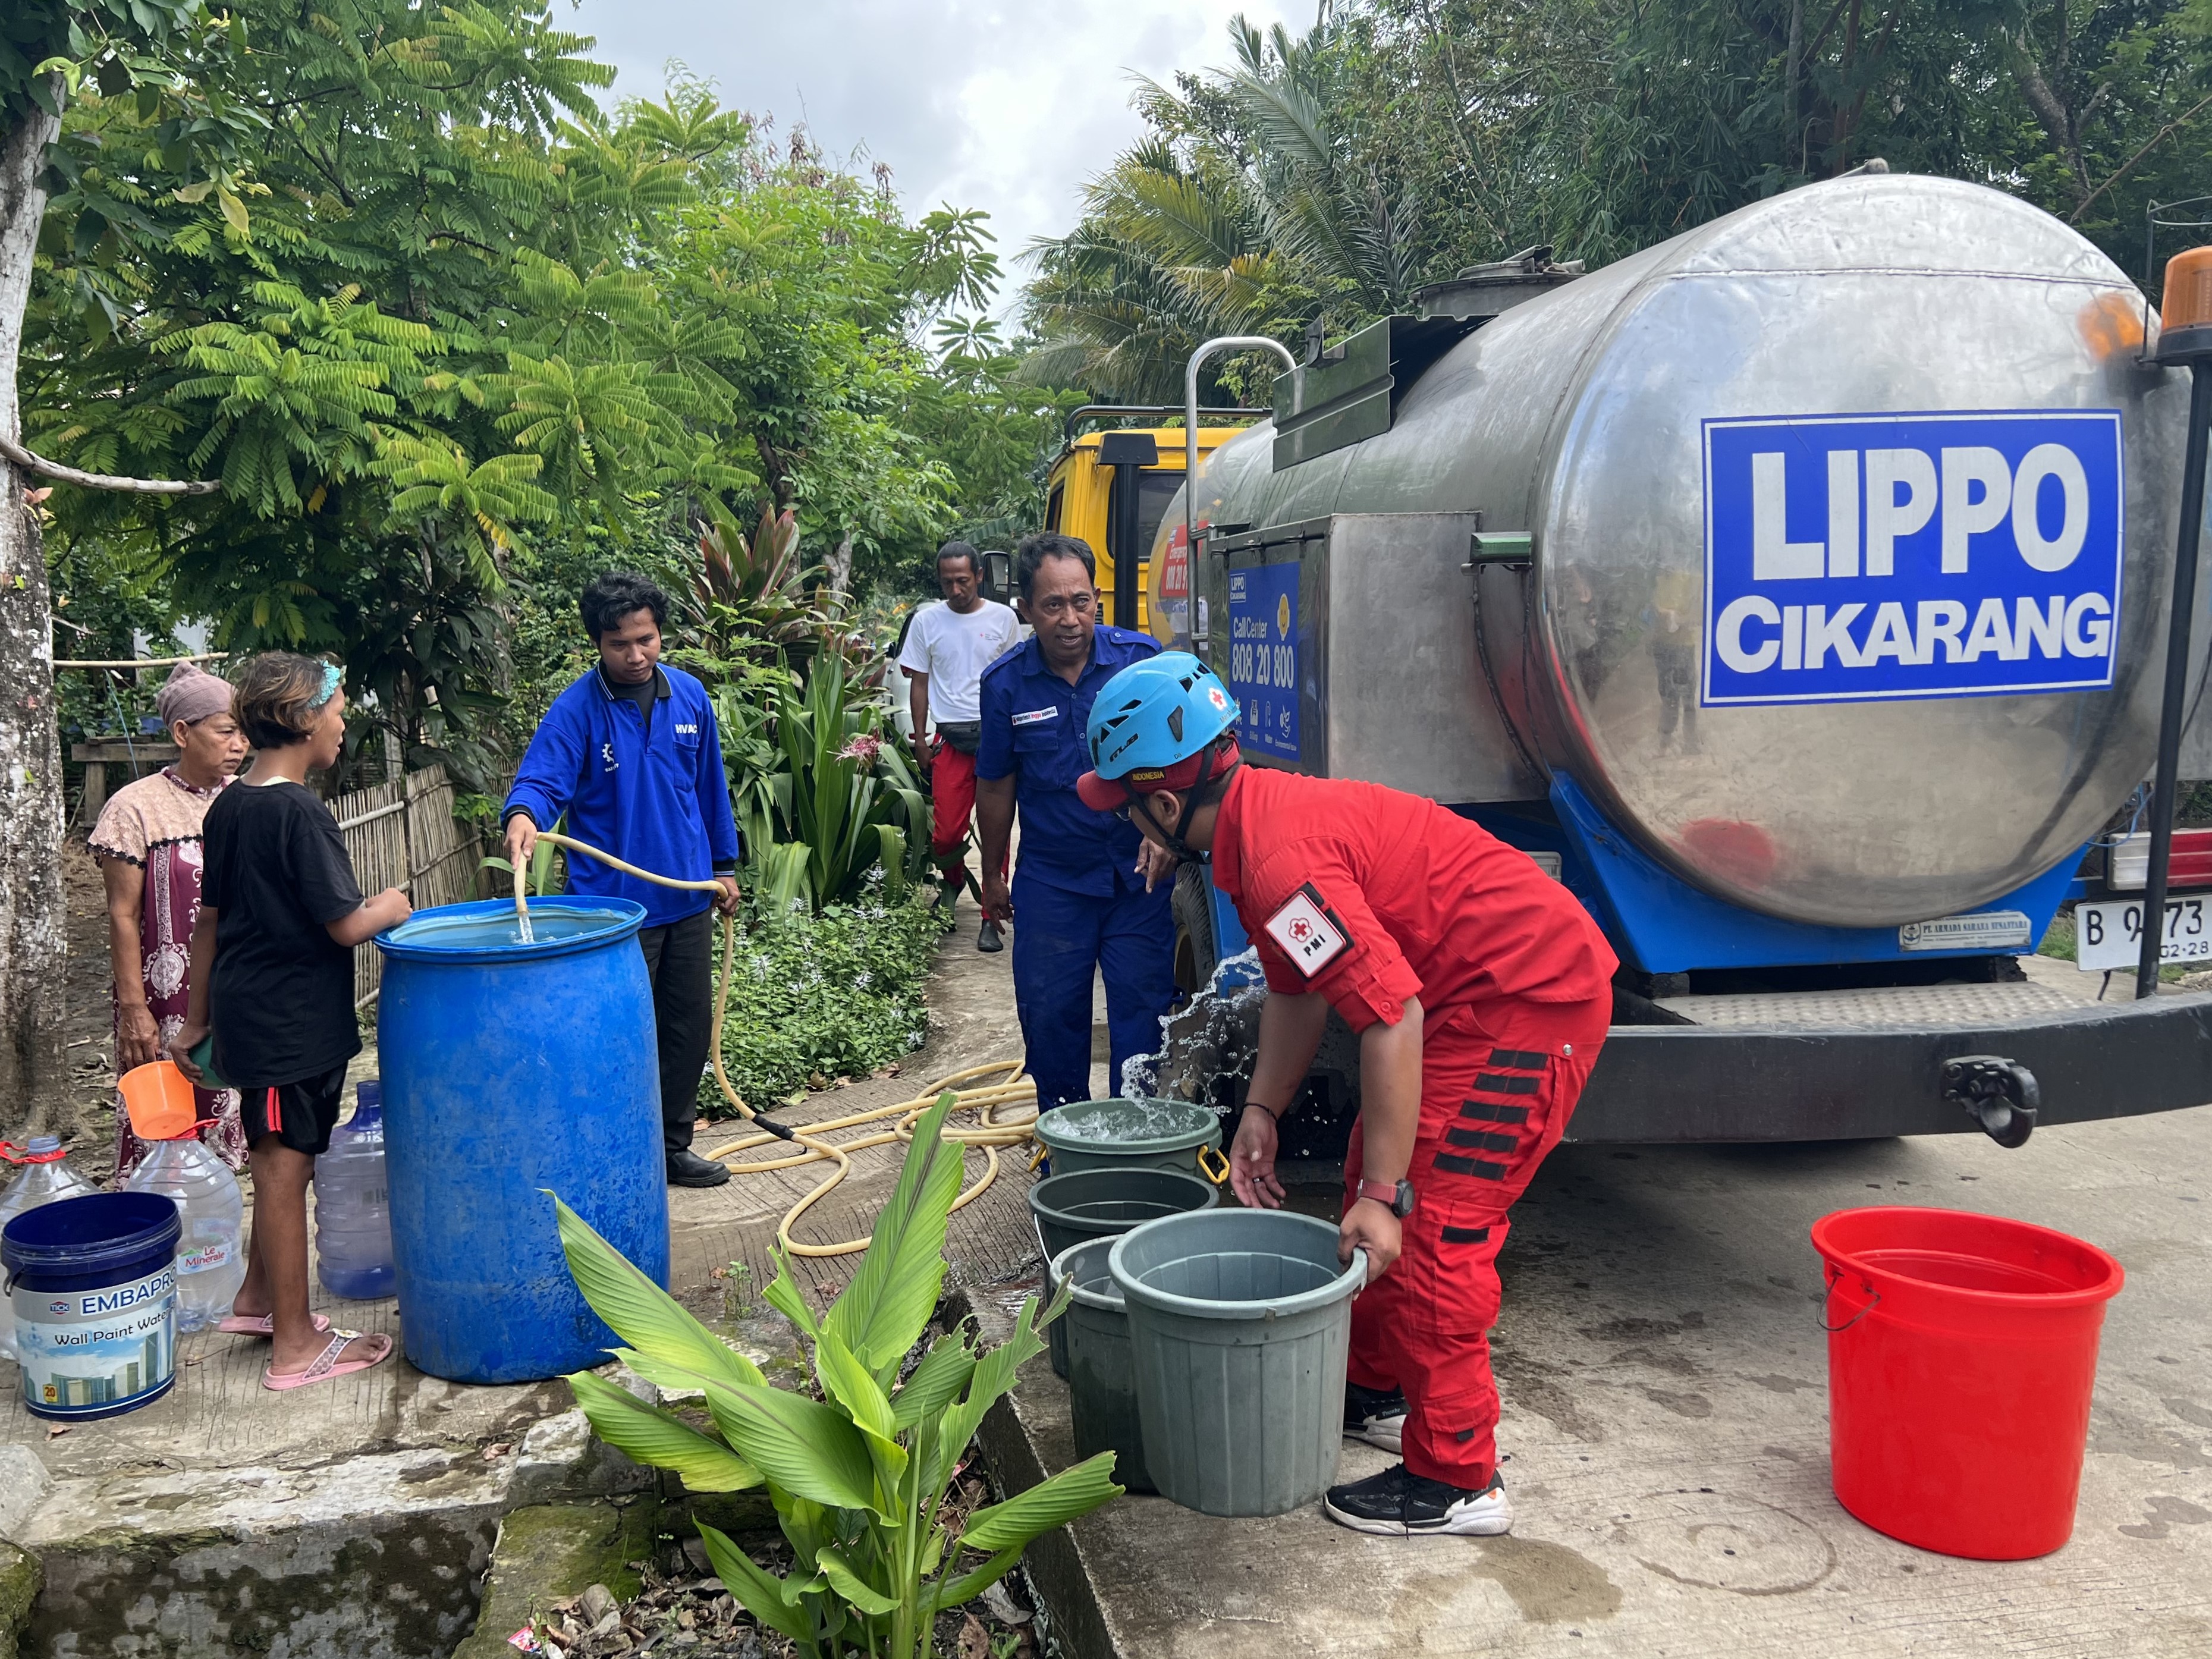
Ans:
{"label": "navy short-sleeved uniform shirt of the man beside the blue helmet", "polygon": [[1091,770],[1084,728],[1099,688],[1133,661],[1157,655],[1159,641],[1150,635],[1102,622],[1091,637],[1091,664],[1073,686],[1044,666],[1035,635],[982,670],[975,776],[1013,776],[1024,876],[1097,898],[1144,885],[1135,874],[1144,841],[1137,825],[1086,807],[1075,779]]}

